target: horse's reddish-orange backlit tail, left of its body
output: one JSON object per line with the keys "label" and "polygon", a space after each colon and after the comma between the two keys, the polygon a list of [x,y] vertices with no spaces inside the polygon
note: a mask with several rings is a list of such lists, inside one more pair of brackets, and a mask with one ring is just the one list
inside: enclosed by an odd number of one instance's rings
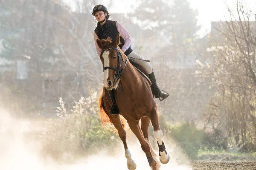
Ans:
{"label": "horse's reddish-orange backlit tail, left of its body", "polygon": [[[102,91],[102,94],[99,97],[100,125],[107,127],[109,130],[112,130],[110,127],[114,127],[114,126],[112,126],[113,123],[111,122],[111,119],[108,116],[108,113],[105,109],[105,105],[104,105],[104,102],[103,102],[102,98],[103,98],[103,91]],[[120,119],[121,119],[121,122],[122,122],[122,127],[125,128],[125,124],[127,123],[126,120],[121,115],[120,115]],[[112,131],[116,132],[116,129],[112,130]]]}

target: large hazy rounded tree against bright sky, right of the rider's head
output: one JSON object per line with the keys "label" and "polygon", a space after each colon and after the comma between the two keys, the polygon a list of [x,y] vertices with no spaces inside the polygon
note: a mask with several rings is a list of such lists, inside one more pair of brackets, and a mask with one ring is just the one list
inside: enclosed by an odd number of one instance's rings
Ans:
{"label": "large hazy rounded tree against bright sky, right of the rider's head", "polygon": [[183,60],[194,52],[193,41],[199,29],[197,15],[187,0],[141,0],[131,14],[142,28],[152,29],[153,34],[172,42],[175,57],[182,55]]}

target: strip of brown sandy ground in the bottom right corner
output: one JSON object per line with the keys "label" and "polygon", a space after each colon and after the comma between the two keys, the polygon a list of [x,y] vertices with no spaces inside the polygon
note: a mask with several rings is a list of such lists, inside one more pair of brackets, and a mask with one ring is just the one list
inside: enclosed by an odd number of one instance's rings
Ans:
{"label": "strip of brown sandy ground in the bottom right corner", "polygon": [[191,165],[193,170],[256,170],[256,161],[195,161]]}

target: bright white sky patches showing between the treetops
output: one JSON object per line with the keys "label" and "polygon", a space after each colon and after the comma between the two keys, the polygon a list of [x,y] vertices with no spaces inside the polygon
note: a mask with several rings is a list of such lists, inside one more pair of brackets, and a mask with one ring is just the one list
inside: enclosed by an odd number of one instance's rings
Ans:
{"label": "bright white sky patches showing between the treetops", "polygon": [[[73,1],[73,0],[64,0]],[[256,13],[255,0],[243,0]],[[100,4],[109,4],[109,0],[100,0]],[[119,12],[126,13],[132,10],[131,5],[138,0],[112,0],[112,6],[107,7],[111,13]],[[227,11],[226,3],[229,6],[234,6],[236,0],[189,0],[190,6],[198,10],[198,25],[201,25],[201,30],[198,32],[200,37],[203,37],[210,31],[211,22],[219,20],[228,20],[230,15]]]}

